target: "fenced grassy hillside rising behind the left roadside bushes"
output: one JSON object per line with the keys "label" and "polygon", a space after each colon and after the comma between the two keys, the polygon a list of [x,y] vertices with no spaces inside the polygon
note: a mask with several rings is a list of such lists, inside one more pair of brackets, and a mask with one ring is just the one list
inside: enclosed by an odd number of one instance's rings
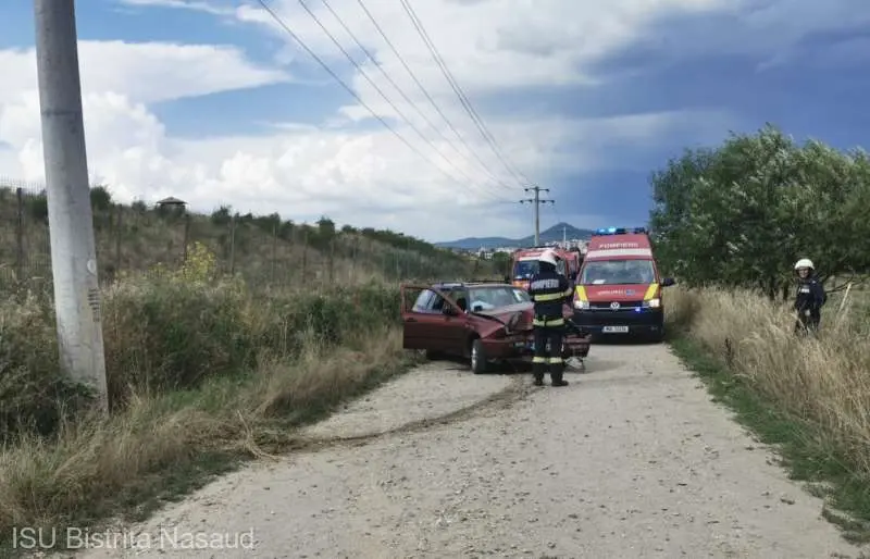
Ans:
{"label": "fenced grassy hillside rising behind the left roadside bushes", "polygon": [[[240,274],[256,287],[399,281],[464,274],[471,268],[458,256],[434,248],[421,251],[415,239],[403,241],[396,235],[393,243],[384,243],[372,238],[378,232],[336,231],[328,220],[295,224],[277,214],[239,214],[228,207],[203,215],[172,199],[153,207],[123,206],[102,187],[91,189],[91,207],[102,283],[125,273],[177,269],[197,245],[214,254],[221,273]],[[0,178],[0,286],[37,287],[50,282],[45,188]]]}

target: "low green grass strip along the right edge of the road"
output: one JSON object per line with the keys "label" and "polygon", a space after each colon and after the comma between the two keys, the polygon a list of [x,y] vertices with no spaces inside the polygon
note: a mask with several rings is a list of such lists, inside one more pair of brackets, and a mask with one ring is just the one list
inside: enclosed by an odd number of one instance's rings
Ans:
{"label": "low green grass strip along the right edge of the road", "polygon": [[678,333],[670,344],[704,381],[713,401],[734,411],[759,442],[775,448],[790,479],[805,482],[810,494],[824,498],[822,515],[838,525],[846,539],[870,542],[870,479],[849,468],[848,457],[828,443],[821,427],[778,409],[689,337]]}

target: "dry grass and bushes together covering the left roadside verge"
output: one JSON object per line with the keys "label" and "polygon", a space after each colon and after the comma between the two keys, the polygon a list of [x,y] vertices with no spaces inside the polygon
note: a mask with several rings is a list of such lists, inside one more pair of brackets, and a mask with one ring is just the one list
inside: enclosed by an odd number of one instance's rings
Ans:
{"label": "dry grass and bushes together covering the left roadside verge", "polygon": [[398,289],[253,291],[208,252],[104,294],[112,412],[57,369],[50,300],[0,302],[0,544],[153,506],[409,363]]}

